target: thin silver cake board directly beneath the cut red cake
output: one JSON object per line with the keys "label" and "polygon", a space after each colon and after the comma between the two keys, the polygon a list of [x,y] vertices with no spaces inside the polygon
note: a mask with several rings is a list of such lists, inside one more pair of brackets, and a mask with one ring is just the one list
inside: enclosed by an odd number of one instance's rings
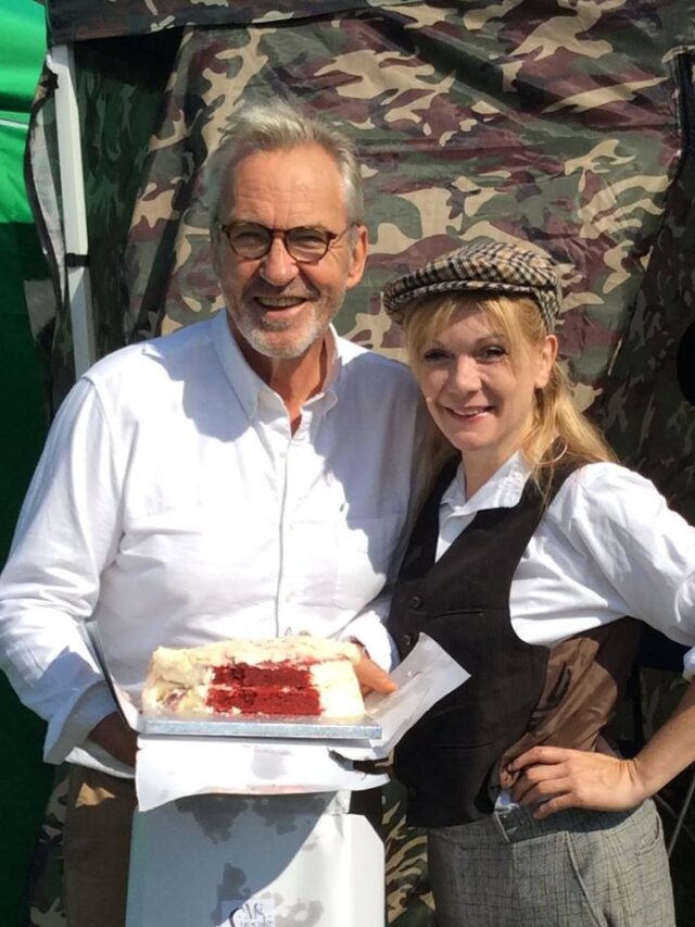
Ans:
{"label": "thin silver cake board directly beneath the cut red cake", "polygon": [[345,721],[275,715],[273,717],[201,716],[193,714],[143,714],[140,731],[150,735],[195,737],[276,737],[303,740],[378,740],[381,725],[367,715]]}

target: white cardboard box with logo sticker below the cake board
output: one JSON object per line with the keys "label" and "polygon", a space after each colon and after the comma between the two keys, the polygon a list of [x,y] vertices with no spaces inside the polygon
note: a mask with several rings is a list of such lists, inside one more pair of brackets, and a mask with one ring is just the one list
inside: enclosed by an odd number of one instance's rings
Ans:
{"label": "white cardboard box with logo sticker below the cake board", "polygon": [[383,927],[383,844],[349,792],[136,813],[126,927]]}

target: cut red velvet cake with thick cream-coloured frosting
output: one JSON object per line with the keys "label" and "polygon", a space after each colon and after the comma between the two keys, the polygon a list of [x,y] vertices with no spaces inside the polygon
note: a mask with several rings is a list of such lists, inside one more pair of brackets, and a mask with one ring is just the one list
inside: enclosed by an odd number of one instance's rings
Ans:
{"label": "cut red velvet cake with thick cream-coloured frosting", "polygon": [[307,635],[160,647],[142,690],[148,713],[353,718],[364,714],[354,643]]}

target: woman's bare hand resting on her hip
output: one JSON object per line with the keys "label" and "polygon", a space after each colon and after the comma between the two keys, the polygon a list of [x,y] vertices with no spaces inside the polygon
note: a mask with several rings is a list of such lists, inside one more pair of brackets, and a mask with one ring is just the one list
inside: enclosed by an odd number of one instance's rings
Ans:
{"label": "woman's bare hand resting on her hip", "polygon": [[648,796],[634,761],[605,753],[533,747],[509,763],[508,769],[521,774],[511,789],[516,802],[542,802],[533,813],[538,818],[568,807],[627,811]]}

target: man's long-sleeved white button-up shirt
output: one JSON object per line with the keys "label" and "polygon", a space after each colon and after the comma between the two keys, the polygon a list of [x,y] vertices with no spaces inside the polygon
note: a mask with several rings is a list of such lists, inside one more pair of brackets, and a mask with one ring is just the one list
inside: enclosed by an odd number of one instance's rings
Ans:
{"label": "man's long-sleeved white button-up shirt", "polygon": [[332,331],[327,346],[294,435],[224,312],[76,384],[0,578],[0,666],[48,721],[49,762],[125,773],[79,749],[114,710],[80,630],[92,615],[135,697],[160,644],[308,631],[389,666],[366,606],[406,522],[417,390],[401,364]]}

